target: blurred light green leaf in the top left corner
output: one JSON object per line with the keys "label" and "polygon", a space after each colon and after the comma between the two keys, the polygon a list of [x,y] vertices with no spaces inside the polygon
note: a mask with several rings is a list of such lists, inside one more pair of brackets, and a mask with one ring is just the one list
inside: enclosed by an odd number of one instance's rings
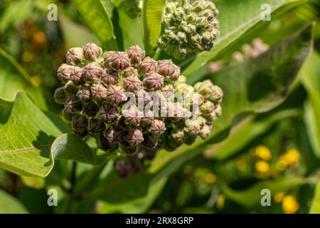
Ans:
{"label": "blurred light green leaf in the top left corner", "polygon": [[17,0],[10,2],[8,6],[1,12],[0,17],[0,33],[4,33],[7,28],[17,26],[22,21],[28,19],[33,14],[34,1]]}

